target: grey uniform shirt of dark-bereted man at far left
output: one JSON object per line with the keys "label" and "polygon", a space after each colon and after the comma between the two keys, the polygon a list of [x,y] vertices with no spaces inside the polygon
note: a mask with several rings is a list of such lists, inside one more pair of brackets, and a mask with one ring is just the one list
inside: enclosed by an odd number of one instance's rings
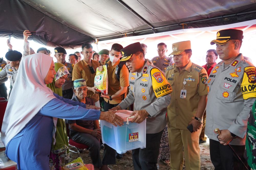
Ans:
{"label": "grey uniform shirt of dark-bereted man at far left", "polygon": [[9,64],[5,66],[5,68],[0,72],[0,79],[4,79],[7,77],[10,80],[11,85],[13,86],[15,79],[17,77],[18,70],[14,67],[10,67]]}

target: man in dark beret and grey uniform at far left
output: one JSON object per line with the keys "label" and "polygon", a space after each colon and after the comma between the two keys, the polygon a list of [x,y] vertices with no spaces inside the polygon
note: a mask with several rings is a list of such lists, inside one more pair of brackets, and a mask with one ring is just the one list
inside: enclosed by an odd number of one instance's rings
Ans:
{"label": "man in dark beret and grey uniform at far left", "polygon": [[[22,58],[22,54],[16,50],[8,51],[5,54],[5,58],[8,61],[5,68],[3,68],[3,70],[0,72],[0,81],[5,77],[7,77],[11,82],[11,87],[13,87],[17,73],[18,73],[18,68],[19,68],[20,60]],[[12,91],[12,88],[9,91],[9,96],[11,91]]]}

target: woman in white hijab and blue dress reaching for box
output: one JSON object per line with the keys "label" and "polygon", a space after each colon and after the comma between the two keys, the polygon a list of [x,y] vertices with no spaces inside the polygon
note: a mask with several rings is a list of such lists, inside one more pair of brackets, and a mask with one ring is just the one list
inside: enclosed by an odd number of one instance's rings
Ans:
{"label": "woman in white hijab and blue dress reaching for box", "polygon": [[46,84],[53,81],[55,74],[50,56],[37,53],[21,60],[2,125],[6,155],[17,162],[18,169],[49,169],[49,154],[55,132],[53,117],[101,119],[115,126],[123,124],[122,118],[114,114],[115,111],[100,112],[91,109],[92,106],[54,94]]}

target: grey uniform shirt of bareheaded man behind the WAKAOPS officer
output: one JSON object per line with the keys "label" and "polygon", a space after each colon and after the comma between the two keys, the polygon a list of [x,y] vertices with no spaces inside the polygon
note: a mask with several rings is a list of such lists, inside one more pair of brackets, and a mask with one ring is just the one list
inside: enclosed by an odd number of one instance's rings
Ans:
{"label": "grey uniform shirt of bareheaded man behind the WAKAOPS officer", "polygon": [[151,61],[154,64],[154,66],[162,70],[164,73],[168,66],[171,66],[174,64],[173,57],[167,57],[167,56],[165,56],[164,59],[162,60],[160,59],[160,57],[156,56],[152,58]]}

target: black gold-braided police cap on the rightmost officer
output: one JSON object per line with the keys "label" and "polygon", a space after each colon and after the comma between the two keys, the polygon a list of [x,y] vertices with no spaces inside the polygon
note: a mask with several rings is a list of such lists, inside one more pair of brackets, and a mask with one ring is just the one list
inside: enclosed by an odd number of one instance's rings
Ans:
{"label": "black gold-braided police cap on the rightmost officer", "polygon": [[211,41],[211,45],[217,44],[226,44],[230,40],[242,40],[243,39],[243,31],[236,29],[227,29],[220,30],[217,32],[216,40]]}

